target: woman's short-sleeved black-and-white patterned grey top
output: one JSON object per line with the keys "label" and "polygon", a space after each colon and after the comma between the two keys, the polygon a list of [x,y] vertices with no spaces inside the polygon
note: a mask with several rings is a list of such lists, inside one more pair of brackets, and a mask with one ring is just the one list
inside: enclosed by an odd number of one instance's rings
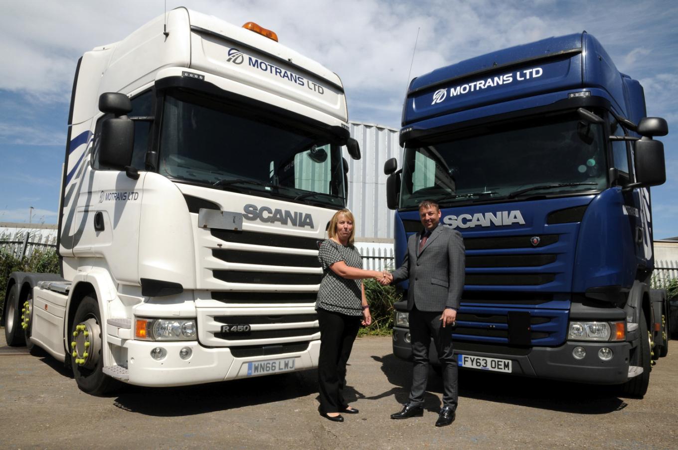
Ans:
{"label": "woman's short-sleeved black-and-white patterned grey top", "polygon": [[320,282],[315,309],[340,312],[347,316],[362,316],[362,280],[349,280],[334,273],[330,266],[343,261],[346,266],[363,268],[363,258],[353,246],[344,247],[332,239],[323,241],[318,251],[318,260],[323,266],[323,280]]}

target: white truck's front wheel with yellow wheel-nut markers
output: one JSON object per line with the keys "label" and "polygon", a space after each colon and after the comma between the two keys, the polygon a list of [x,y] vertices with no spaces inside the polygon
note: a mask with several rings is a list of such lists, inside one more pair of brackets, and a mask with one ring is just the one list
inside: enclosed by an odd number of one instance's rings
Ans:
{"label": "white truck's front wheel with yellow wheel-nut markers", "polygon": [[71,327],[71,366],[78,387],[92,395],[103,395],[115,387],[113,379],[104,375],[102,327],[99,305],[87,295],[75,312]]}

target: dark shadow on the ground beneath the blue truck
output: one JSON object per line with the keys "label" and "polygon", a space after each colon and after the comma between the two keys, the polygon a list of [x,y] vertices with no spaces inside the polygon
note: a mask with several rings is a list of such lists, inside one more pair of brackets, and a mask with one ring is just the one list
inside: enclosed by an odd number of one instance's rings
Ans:
{"label": "dark shadow on the ground beneath the blue truck", "polygon": [[[388,382],[396,387],[370,398],[395,395],[399,403],[406,403],[411,385],[412,363],[397,359],[393,354],[372,356],[382,365]],[[443,380],[433,370],[428,373],[424,408],[439,411],[439,397]],[[459,396],[498,403],[510,403],[532,408],[550,409],[578,414],[605,414],[619,411],[626,403],[618,398],[619,386],[599,386],[539,380],[502,373],[460,370]],[[433,394],[435,392],[435,394]]]}

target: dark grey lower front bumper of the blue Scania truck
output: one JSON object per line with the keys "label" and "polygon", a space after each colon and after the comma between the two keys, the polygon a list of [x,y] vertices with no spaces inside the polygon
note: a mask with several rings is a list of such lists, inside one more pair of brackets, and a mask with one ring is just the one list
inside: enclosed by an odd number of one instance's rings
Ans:
{"label": "dark grey lower front bumper of the blue Scania truck", "polygon": [[[406,328],[393,328],[393,354],[401,359],[410,360],[412,346],[405,342],[405,333],[408,331]],[[523,354],[468,350],[467,348],[472,345],[461,342],[454,344],[454,354],[510,359],[513,361],[513,375],[590,384],[622,384],[629,377],[631,344],[628,342],[565,342],[559,347],[525,348]],[[572,350],[577,346],[586,350],[584,359],[576,360],[572,356]],[[613,356],[610,361],[601,361],[598,358],[598,350],[601,347],[612,350]],[[433,342],[428,354],[431,363],[439,364]]]}

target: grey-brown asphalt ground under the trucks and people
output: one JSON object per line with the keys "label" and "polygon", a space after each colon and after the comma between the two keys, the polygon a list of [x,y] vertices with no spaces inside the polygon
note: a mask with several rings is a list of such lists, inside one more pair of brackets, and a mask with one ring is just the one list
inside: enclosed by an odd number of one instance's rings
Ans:
{"label": "grey-brown asphalt ground under the trucks and people", "polygon": [[318,413],[315,371],[181,388],[81,392],[49,356],[5,346],[0,331],[1,449],[595,449],[678,448],[678,342],[642,399],[586,386],[460,371],[456,422],[436,428],[441,379],[431,372],[424,417],[391,420],[412,365],[390,337],[357,340],[345,422]]}

